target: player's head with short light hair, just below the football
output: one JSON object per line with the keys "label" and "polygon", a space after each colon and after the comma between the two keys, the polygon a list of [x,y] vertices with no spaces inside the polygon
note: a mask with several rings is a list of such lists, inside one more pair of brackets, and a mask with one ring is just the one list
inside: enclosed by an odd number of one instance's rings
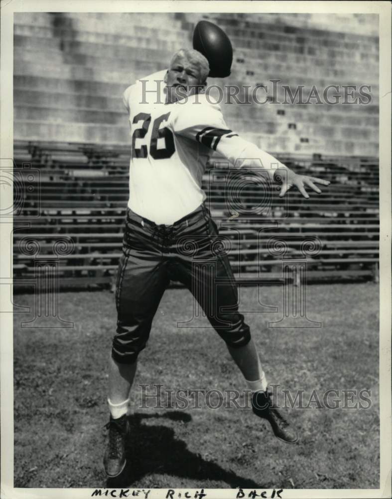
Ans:
{"label": "player's head with short light hair, just below the football", "polygon": [[167,101],[176,102],[198,93],[204,87],[203,83],[199,67],[187,58],[177,56],[166,74]]}

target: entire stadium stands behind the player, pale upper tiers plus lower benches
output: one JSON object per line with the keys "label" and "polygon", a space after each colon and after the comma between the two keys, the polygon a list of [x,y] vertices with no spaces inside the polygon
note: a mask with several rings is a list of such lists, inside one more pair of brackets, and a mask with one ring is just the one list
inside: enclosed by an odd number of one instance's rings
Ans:
{"label": "entire stadium stands behind the player, pale upper tiers plus lower benches", "polygon": [[[337,43],[337,28],[315,27],[309,18],[301,24],[300,16],[292,24],[276,14],[252,21],[234,14],[203,17],[221,25],[234,46],[231,76],[212,83],[255,87],[279,79],[292,88],[304,85],[304,92],[337,81],[372,88],[368,105],[222,105],[227,122],[244,138],[299,173],[331,181],[322,195],[309,200],[292,191],[285,204],[277,193],[267,193],[271,201],[264,222],[233,213],[227,201],[231,170],[219,168],[220,175],[228,176],[226,189],[211,183],[208,170],[207,203],[222,221],[220,232],[230,241],[236,275],[281,276],[282,256],[271,253],[268,241],[283,239],[286,260],[305,258],[308,277],[377,280],[377,36],[371,30],[358,34],[343,20]],[[128,200],[130,140],[122,93],[135,78],[165,68],[173,51],[189,47],[199,18],[185,13],[159,18],[145,13],[15,14],[14,162],[19,182],[14,185],[23,191],[15,213],[15,276],[36,275],[45,268],[37,260],[47,258],[56,262],[60,285],[113,283]],[[364,55],[366,67],[358,63]],[[32,170],[38,173],[27,180]],[[24,189],[27,184],[31,191]],[[244,188],[240,202],[258,205],[257,186]],[[320,250],[305,257],[303,242],[312,238],[320,241]],[[39,253],[31,241],[38,242]],[[53,250],[59,241],[68,248],[63,254]]]}

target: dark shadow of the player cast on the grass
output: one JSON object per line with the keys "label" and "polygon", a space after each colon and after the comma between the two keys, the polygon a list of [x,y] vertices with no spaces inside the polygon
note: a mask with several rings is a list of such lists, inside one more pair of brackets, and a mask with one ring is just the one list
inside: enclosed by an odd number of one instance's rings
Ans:
{"label": "dark shadow of the player cast on the grass", "polygon": [[[175,437],[171,428],[161,425],[143,425],[143,419],[171,419],[189,423],[192,417],[181,411],[164,414],[133,414],[129,416],[131,435],[127,442],[127,464],[116,478],[107,480],[108,489],[129,488],[145,475],[159,473],[200,481],[200,487],[208,488],[208,481],[225,482],[231,488],[262,488],[253,480],[239,477],[226,471],[212,461],[204,460],[200,454],[187,449],[186,443]],[[206,485],[203,485],[206,484]],[[154,484],[165,488],[165,484]]]}

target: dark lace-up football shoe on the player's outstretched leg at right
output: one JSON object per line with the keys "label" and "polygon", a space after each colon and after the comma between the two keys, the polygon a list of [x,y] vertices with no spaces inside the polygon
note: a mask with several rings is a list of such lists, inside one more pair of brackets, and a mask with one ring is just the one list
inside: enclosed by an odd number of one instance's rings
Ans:
{"label": "dark lace-up football shoe on the player's outstretched leg at right", "polygon": [[299,440],[297,434],[280,414],[271,396],[272,393],[268,391],[255,392],[252,396],[253,412],[269,422],[276,438],[287,444],[297,443]]}

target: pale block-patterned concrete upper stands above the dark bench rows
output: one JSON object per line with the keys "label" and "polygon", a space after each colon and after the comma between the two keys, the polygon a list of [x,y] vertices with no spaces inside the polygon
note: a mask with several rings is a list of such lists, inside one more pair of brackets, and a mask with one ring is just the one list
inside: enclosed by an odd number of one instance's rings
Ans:
{"label": "pale block-patterned concrete upper stands above the dark bench rows", "polygon": [[[318,14],[319,15],[319,14]],[[223,104],[232,129],[270,152],[378,156],[378,16],[355,14],[17,13],[14,16],[14,138],[127,144],[122,93],[191,47],[200,18],[234,47],[218,85],[257,87],[264,105]],[[370,85],[368,104],[279,104],[270,80],[295,93],[313,86]],[[240,92],[239,98],[244,98]]]}

